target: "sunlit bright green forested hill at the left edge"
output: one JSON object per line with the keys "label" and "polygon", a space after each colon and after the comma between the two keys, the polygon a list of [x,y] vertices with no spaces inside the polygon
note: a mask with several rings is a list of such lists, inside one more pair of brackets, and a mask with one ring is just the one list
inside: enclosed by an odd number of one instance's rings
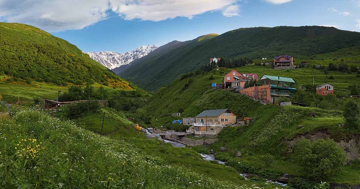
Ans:
{"label": "sunlit bright green forested hill at the left edge", "polygon": [[0,75],[58,85],[101,82],[126,90],[133,84],[107,71],[75,45],[19,23],[0,22]]}

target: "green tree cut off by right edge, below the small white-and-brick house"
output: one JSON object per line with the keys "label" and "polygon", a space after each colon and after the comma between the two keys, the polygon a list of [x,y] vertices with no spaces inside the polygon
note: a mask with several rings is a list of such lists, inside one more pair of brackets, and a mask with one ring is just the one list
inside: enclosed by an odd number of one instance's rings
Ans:
{"label": "green tree cut off by right edge, below the small white-and-brick house", "polygon": [[343,109],[343,116],[345,118],[345,126],[349,129],[360,128],[359,126],[359,117],[360,117],[360,107],[354,100],[348,100],[345,103]]}

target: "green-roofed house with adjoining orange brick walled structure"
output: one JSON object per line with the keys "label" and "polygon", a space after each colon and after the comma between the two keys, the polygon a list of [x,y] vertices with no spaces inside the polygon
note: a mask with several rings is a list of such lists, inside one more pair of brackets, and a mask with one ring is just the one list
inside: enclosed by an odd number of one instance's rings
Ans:
{"label": "green-roofed house with adjoining orange brick walled structure", "polygon": [[295,88],[290,85],[295,81],[289,77],[280,76],[267,76],[264,75],[257,82],[262,86],[253,86],[247,89],[240,90],[241,94],[250,96],[254,100],[258,100],[261,103],[275,103],[279,97],[290,97]]}

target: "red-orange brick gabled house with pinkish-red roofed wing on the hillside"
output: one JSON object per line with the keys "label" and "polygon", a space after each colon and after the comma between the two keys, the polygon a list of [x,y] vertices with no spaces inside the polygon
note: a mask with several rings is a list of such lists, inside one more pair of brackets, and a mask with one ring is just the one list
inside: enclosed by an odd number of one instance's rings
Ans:
{"label": "red-orange brick gabled house with pinkish-red roofed wing on the hillside", "polygon": [[240,91],[244,88],[244,85],[247,81],[252,80],[258,80],[256,73],[239,73],[233,69],[229,73],[225,74],[224,78],[222,79],[222,86],[224,89]]}

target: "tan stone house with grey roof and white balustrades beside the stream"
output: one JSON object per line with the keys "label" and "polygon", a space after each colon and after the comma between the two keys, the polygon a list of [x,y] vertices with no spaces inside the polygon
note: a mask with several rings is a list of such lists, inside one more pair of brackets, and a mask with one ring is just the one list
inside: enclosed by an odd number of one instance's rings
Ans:
{"label": "tan stone house with grey roof and white balustrades beside the stream", "polygon": [[186,130],[187,133],[199,135],[216,135],[226,125],[236,123],[236,115],[229,109],[205,110],[198,114],[196,123]]}

